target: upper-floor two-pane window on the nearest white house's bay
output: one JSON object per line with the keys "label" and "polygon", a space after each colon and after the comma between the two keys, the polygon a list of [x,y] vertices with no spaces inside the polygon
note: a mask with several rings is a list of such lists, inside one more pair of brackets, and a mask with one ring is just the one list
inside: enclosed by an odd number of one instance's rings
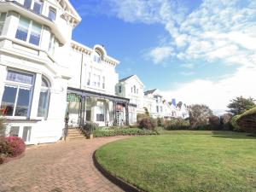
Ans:
{"label": "upper-floor two-pane window on the nearest white house's bay", "polygon": [[15,38],[30,44],[39,45],[41,38],[42,26],[33,20],[28,20],[20,16],[19,26]]}

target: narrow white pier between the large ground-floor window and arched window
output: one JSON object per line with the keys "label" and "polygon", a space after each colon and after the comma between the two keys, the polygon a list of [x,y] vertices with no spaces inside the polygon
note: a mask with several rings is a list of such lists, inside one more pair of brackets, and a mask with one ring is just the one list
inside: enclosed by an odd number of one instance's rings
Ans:
{"label": "narrow white pier between the large ground-floor window and arched window", "polygon": [[41,83],[42,83],[42,74],[37,73],[34,89],[33,89],[33,97],[32,97],[32,107],[31,107],[31,113],[30,118],[36,119],[38,117],[38,102],[40,97],[40,90],[41,90]]}

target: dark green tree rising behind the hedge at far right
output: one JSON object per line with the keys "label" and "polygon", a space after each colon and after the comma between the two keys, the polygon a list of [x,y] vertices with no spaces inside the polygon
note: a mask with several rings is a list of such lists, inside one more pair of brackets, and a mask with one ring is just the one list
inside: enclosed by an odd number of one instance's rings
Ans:
{"label": "dark green tree rising behind the hedge at far right", "polygon": [[230,104],[227,106],[230,108],[228,112],[237,115],[246,112],[247,110],[256,107],[255,100],[252,97],[244,98],[242,96],[236,97],[230,101]]}

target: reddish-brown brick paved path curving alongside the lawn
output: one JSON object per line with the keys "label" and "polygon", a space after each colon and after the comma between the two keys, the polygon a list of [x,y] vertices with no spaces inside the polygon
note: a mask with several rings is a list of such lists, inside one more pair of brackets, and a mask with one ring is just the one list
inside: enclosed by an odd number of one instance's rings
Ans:
{"label": "reddish-brown brick paved path curving alongside the lawn", "polygon": [[0,166],[0,191],[122,191],[93,165],[92,154],[124,137],[102,137],[27,148],[25,156]]}

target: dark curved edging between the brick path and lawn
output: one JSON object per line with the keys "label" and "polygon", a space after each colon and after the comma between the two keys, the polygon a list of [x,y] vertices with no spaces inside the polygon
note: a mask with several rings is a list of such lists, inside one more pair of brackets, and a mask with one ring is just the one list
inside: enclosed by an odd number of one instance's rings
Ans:
{"label": "dark curved edging between the brick path and lawn", "polygon": [[92,155],[94,166],[96,166],[97,170],[101,172],[104,177],[107,177],[109,181],[111,181],[115,185],[119,186],[119,188],[127,192],[144,192],[142,189],[137,189],[137,187],[131,185],[130,183],[126,183],[123,179],[113,176],[110,172],[108,172],[100,165],[100,163],[96,160],[95,154],[96,151]]}

